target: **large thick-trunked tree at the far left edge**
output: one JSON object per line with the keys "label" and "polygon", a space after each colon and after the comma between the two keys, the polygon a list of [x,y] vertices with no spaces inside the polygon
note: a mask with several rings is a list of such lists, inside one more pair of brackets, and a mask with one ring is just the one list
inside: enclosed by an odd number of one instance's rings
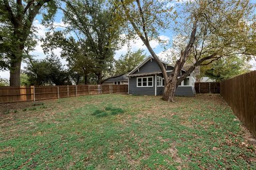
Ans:
{"label": "large thick-trunked tree at the far left edge", "polygon": [[43,13],[44,21],[50,21],[57,7],[56,1],[1,0],[0,1],[0,53],[1,69],[10,70],[10,86],[20,86],[20,66],[23,50],[33,32],[35,16]]}

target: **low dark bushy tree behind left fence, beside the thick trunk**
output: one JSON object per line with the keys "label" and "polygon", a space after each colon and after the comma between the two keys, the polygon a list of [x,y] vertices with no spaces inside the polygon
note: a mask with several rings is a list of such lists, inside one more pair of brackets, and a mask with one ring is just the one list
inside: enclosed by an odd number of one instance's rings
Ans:
{"label": "low dark bushy tree behind left fence, beside the thick trunk", "polygon": [[63,68],[57,56],[47,56],[40,61],[33,60],[25,69],[31,85],[71,84],[68,71]]}

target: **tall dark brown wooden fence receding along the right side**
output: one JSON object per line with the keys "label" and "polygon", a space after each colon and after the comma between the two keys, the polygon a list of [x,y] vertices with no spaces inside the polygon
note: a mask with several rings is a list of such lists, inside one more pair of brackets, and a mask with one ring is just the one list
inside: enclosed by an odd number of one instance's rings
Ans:
{"label": "tall dark brown wooden fence receding along the right side", "polygon": [[220,83],[220,94],[256,137],[256,71]]}

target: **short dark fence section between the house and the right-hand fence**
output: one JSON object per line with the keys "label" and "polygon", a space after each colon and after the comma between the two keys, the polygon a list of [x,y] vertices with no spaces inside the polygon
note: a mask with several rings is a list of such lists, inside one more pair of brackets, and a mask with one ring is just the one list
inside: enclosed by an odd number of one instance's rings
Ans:
{"label": "short dark fence section between the house and the right-hand fence", "polygon": [[219,82],[196,82],[195,90],[197,94],[219,94]]}

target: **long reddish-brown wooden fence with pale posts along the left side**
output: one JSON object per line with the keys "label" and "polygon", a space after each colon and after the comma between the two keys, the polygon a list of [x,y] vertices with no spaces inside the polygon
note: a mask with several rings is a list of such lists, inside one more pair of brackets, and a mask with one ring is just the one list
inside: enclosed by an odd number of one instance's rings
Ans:
{"label": "long reddish-brown wooden fence with pale posts along the left side", "polygon": [[0,103],[127,92],[128,85],[0,87]]}

